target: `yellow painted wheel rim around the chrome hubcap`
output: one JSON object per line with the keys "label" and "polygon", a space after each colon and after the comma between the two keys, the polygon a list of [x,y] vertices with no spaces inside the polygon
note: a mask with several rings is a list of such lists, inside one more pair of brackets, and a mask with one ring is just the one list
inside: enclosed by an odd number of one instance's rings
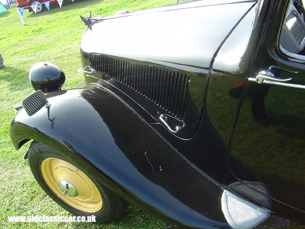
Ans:
{"label": "yellow painted wheel rim around the chrome hubcap", "polygon": [[[66,204],[83,212],[94,213],[103,207],[101,194],[93,181],[80,169],[59,158],[46,158],[41,163],[41,174],[49,188]],[[64,195],[58,183],[68,181],[77,196]]]}

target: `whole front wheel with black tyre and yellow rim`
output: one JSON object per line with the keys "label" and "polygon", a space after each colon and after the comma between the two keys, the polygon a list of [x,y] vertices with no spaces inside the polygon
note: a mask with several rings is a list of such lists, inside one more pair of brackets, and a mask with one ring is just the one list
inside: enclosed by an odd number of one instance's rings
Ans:
{"label": "whole front wheel with black tyre and yellow rim", "polygon": [[124,213],[127,202],[50,147],[33,141],[28,162],[42,189],[68,212],[110,222]]}

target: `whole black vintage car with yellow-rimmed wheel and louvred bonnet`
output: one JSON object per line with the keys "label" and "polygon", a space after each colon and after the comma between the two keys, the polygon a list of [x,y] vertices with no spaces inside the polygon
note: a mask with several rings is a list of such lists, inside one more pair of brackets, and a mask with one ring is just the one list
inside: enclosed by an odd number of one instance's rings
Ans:
{"label": "whole black vintage car with yellow-rimmed wheel and louvred bonnet", "polygon": [[86,85],[60,90],[60,68],[33,66],[10,126],[57,204],[98,222],[129,202],[181,228],[305,223],[302,1],[82,20]]}

